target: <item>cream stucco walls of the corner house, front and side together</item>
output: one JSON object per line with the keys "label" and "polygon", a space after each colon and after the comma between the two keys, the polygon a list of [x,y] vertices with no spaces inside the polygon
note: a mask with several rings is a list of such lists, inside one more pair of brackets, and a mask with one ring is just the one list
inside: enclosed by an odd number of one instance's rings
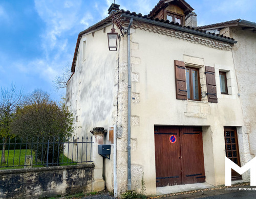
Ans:
{"label": "cream stucco walls of the corner house, front and side together", "polygon": [[[91,136],[90,131],[94,127],[108,129],[117,124],[117,184],[120,195],[127,189],[127,35],[121,37],[119,53],[109,52],[106,33],[110,29],[110,26],[106,27],[104,33],[102,27],[95,31],[94,37],[92,33],[82,36],[75,74],[67,85],[66,104],[74,118],[78,116],[76,136]],[[87,45],[85,61],[82,58],[84,40]],[[202,91],[206,91],[204,66],[214,66],[218,104],[208,103],[207,96],[201,102],[176,99],[174,60],[200,69]],[[132,189],[141,190],[144,172],[146,194],[156,194],[154,125],[202,126],[206,182],[216,186],[224,184],[223,127],[238,127],[243,165],[248,159],[249,147],[245,133],[248,125],[244,126],[244,121],[247,123],[251,118],[248,108],[248,119],[243,119],[245,109],[242,113],[242,96],[238,97],[242,90],[238,91],[232,51],[133,28],[131,63]],[[219,70],[227,71],[228,95],[220,93]],[[243,78],[244,74],[241,74],[241,80]],[[249,82],[244,86],[246,84]],[[248,107],[246,103],[244,106]],[[108,144],[108,135],[105,136],[105,144]],[[111,150],[113,152],[113,147]],[[81,156],[80,150],[78,154]],[[104,160],[104,177],[106,187],[113,191],[113,153],[111,160]]]}

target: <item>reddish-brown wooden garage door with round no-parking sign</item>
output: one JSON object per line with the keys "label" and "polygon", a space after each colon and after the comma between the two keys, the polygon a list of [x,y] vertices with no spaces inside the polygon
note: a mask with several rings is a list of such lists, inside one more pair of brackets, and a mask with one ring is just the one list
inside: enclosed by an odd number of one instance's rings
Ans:
{"label": "reddish-brown wooden garage door with round no-parking sign", "polygon": [[157,187],[205,182],[201,127],[155,126],[155,158]]}

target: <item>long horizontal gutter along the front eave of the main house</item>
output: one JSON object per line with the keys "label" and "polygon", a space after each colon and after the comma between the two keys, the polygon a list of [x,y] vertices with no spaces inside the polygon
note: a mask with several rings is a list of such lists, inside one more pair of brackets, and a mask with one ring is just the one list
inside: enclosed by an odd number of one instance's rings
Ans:
{"label": "long horizontal gutter along the front eave of the main house", "polygon": [[211,35],[211,34],[208,34],[208,33],[200,32],[200,31],[196,31],[196,30],[193,30],[193,29],[188,29],[188,28],[184,28],[184,27],[180,27],[180,26],[175,26],[175,25],[169,24],[169,23],[155,21],[155,20],[152,20],[152,19],[133,16],[133,15],[130,15],[130,14],[122,13],[121,17],[133,18],[135,20],[142,21],[142,22],[145,22],[145,23],[150,23],[150,24],[154,24],[154,25],[157,25],[157,26],[162,26],[162,27],[169,28],[169,29],[175,29],[175,30],[182,31],[182,32],[187,32],[187,33],[196,34],[196,35],[200,35],[200,36],[204,36],[204,37],[209,37],[209,38],[212,38],[212,39],[217,39],[217,40],[225,41],[225,42],[232,43],[232,44],[237,43],[237,41],[232,40],[232,39],[223,38],[223,37]]}

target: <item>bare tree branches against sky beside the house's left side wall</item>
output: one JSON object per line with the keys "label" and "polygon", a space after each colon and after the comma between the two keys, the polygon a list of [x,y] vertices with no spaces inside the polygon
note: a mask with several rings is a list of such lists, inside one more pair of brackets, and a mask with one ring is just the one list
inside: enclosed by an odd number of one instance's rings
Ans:
{"label": "bare tree branches against sky beside the house's left side wall", "polygon": [[67,83],[72,76],[73,72],[70,70],[69,64],[64,66],[62,68],[62,74],[59,74],[55,79],[53,80],[53,86],[56,90],[59,90],[60,88],[66,88]]}

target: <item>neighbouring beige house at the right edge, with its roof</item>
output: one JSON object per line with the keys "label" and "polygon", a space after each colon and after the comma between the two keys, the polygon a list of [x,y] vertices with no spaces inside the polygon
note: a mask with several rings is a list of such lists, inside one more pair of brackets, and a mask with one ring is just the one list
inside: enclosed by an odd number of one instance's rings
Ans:
{"label": "neighbouring beige house at the right edge, with its roof", "polygon": [[[199,27],[206,32],[232,37],[238,41],[232,47],[234,68],[238,82],[240,103],[243,112],[245,139],[248,139],[248,159],[256,156],[256,107],[255,104],[255,75],[256,75],[256,23],[236,19],[222,23]],[[227,83],[228,84],[228,83]],[[240,139],[243,139],[242,137]]]}

